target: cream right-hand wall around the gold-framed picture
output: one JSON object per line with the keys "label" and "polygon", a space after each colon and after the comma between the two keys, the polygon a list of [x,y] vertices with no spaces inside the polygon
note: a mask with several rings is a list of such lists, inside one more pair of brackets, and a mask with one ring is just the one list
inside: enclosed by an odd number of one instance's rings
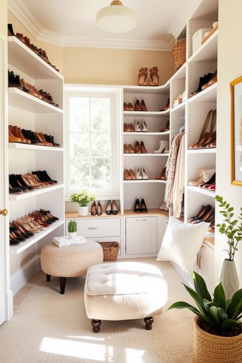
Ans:
{"label": "cream right-hand wall around the gold-framed picture", "polygon": [[[217,99],[217,160],[216,194],[222,195],[234,208],[235,217],[242,207],[242,187],[231,185],[230,162],[230,82],[242,76],[242,1],[219,0],[218,35],[218,99]],[[216,202],[217,203],[217,202]],[[217,206],[217,205],[216,205]],[[216,223],[222,216],[216,209]],[[227,248],[226,239],[216,230],[215,270],[217,277],[222,260],[227,258],[223,249]],[[235,254],[235,262],[242,287],[242,242]]]}

